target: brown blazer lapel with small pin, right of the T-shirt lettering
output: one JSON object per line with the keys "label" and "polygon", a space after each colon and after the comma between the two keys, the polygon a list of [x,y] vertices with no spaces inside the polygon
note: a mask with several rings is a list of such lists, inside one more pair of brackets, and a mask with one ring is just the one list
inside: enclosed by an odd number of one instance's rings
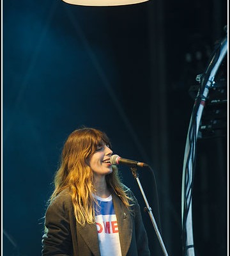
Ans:
{"label": "brown blazer lapel with small pin, right of the T-shirt lettering", "polygon": [[121,200],[116,195],[112,195],[112,201],[114,204],[114,211],[116,213],[116,218],[118,220],[118,230],[119,230],[119,241],[121,244],[122,256],[127,255],[128,248],[130,248],[130,243],[132,239],[132,217],[127,207],[121,202]]}

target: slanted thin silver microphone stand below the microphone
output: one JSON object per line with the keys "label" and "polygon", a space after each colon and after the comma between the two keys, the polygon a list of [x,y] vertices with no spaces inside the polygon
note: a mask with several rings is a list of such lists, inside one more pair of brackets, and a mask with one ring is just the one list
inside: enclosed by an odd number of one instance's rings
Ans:
{"label": "slanted thin silver microphone stand below the microphone", "polygon": [[158,237],[158,240],[160,242],[160,246],[162,247],[163,253],[164,253],[165,256],[168,256],[167,251],[166,251],[165,246],[164,246],[164,242],[162,240],[162,237],[160,236],[160,232],[158,230],[157,223],[155,221],[155,218],[153,217],[153,212],[151,211],[151,207],[148,204],[148,200],[147,200],[147,198],[144,194],[144,190],[142,189],[141,182],[139,180],[139,174],[137,173],[137,168],[131,167],[131,171],[132,171],[132,175],[134,176],[134,179],[137,180],[137,184],[139,185],[139,188],[141,190],[142,196],[144,198],[144,202],[146,203],[146,208],[145,209],[146,209],[146,211],[148,211],[148,214],[150,215],[151,222],[153,223],[153,227],[154,227],[155,232],[157,234],[157,237]]}

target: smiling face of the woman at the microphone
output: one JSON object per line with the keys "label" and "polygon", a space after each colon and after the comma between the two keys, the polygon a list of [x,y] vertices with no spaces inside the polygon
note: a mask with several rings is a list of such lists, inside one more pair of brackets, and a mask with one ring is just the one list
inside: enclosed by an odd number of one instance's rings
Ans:
{"label": "smiling face of the woman at the microphone", "polygon": [[103,176],[112,172],[111,155],[111,148],[105,144],[96,149],[95,153],[89,158],[89,166],[94,175]]}

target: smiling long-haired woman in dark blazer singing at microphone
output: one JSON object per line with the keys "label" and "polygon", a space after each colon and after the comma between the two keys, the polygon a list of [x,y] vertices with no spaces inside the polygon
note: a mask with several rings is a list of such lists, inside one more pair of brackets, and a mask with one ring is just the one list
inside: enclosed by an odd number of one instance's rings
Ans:
{"label": "smiling long-haired woman in dark blazer singing at microphone", "polygon": [[43,256],[150,255],[139,204],[111,155],[102,131],[82,128],[68,136],[45,213]]}

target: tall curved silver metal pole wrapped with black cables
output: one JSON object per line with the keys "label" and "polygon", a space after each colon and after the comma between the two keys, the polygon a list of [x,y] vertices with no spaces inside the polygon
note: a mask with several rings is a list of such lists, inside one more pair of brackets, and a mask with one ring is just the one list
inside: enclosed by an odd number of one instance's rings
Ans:
{"label": "tall curved silver metal pole wrapped with black cables", "polygon": [[195,149],[199,124],[206,98],[211,87],[215,86],[215,75],[227,53],[227,35],[222,39],[218,48],[213,52],[211,61],[202,76],[201,88],[197,93],[185,146],[183,161],[182,191],[181,191],[181,216],[183,230],[183,255],[194,256],[194,239],[192,232],[192,186],[195,170]]}

